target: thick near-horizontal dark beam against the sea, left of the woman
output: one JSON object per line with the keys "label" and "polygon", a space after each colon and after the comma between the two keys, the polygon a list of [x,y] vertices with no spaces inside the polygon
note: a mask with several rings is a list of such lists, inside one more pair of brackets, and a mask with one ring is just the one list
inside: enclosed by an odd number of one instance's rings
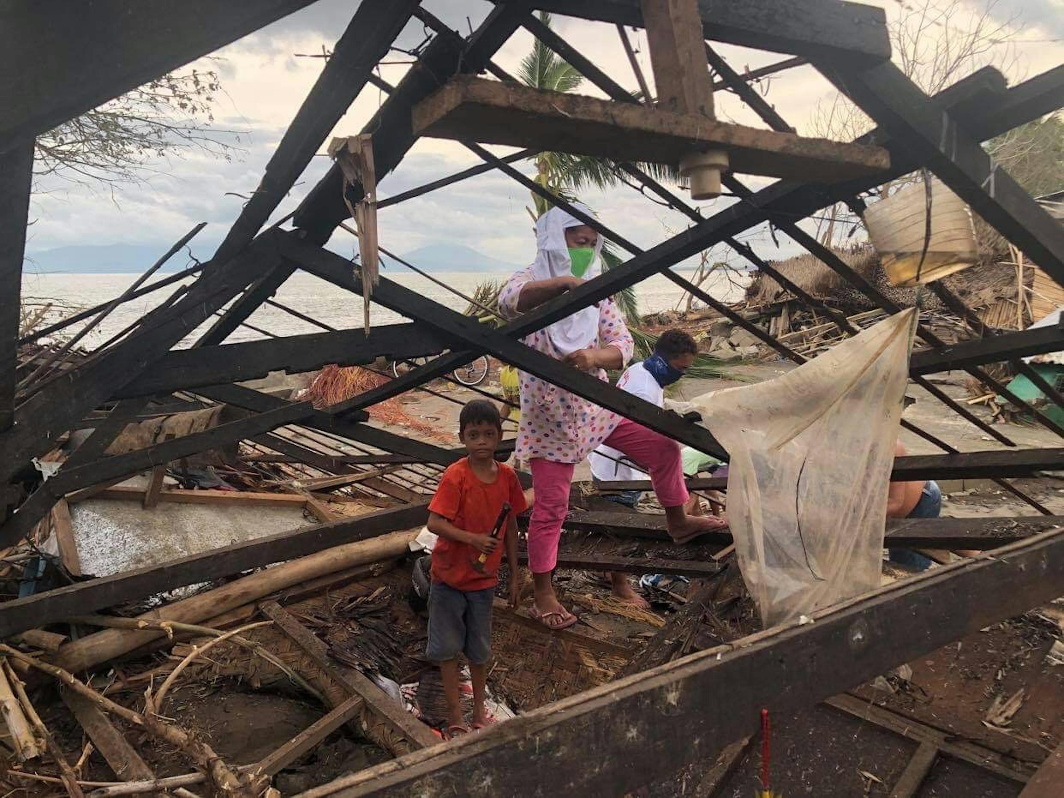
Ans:
{"label": "thick near-horizontal dark beam against the sea, left of the woman", "polygon": [[167,352],[116,398],[168,394],[173,390],[243,382],[265,377],[270,371],[300,373],[326,364],[355,366],[388,360],[423,358],[447,349],[450,343],[421,325],[401,323],[364,330],[290,335],[268,340],[178,349]]}

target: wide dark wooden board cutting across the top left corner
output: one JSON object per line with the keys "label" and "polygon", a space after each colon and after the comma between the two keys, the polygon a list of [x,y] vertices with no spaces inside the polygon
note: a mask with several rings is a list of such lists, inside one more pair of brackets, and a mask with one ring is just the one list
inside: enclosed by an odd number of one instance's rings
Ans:
{"label": "wide dark wooden board cutting across the top left corner", "polygon": [[[256,31],[312,0],[11,0],[0,6],[0,150]],[[47,59],[41,59],[48,53]],[[27,69],[34,64],[33,69]]]}

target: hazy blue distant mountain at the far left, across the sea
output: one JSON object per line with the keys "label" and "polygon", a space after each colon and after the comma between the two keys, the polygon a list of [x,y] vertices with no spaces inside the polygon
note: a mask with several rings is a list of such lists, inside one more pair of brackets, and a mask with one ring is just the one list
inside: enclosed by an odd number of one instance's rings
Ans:
{"label": "hazy blue distant mountain at the far left, across the sea", "polygon": [[[170,248],[171,244],[105,244],[71,246],[27,252],[28,272],[64,271],[73,273],[119,275],[148,270]],[[193,253],[201,261],[214,253],[217,244],[193,242]],[[161,269],[180,271],[188,263],[186,250],[177,252]]]}

